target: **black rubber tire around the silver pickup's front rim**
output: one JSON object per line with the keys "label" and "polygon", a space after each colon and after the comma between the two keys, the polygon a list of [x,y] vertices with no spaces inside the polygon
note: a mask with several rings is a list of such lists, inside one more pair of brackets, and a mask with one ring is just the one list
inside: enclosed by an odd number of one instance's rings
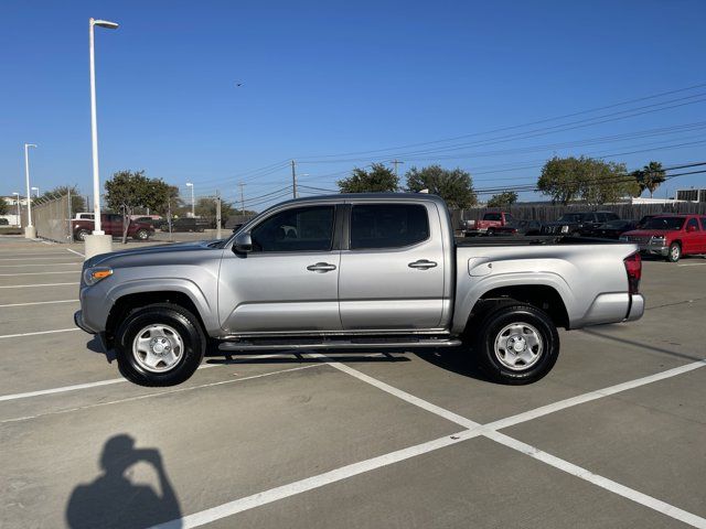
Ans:
{"label": "black rubber tire around the silver pickup's front rim", "polygon": [[[132,344],[149,325],[168,325],[183,343],[181,356],[169,370],[152,373],[132,353]],[[201,324],[186,309],[171,303],[156,303],[132,311],[120,324],[115,336],[118,367],[125,378],[139,386],[175,386],[196,370],[206,350],[206,336]]]}

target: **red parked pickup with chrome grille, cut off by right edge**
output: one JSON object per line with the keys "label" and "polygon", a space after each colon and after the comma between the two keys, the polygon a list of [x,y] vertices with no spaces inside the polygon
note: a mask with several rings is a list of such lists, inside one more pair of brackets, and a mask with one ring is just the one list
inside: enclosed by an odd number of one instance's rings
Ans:
{"label": "red parked pickup with chrome grille, cut off by right edge", "polygon": [[655,215],[620,240],[635,242],[643,253],[676,262],[682,256],[706,253],[706,216]]}

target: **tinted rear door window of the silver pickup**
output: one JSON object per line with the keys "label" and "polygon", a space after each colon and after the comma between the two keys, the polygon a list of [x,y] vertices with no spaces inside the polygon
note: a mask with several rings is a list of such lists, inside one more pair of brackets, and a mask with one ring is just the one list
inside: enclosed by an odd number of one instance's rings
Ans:
{"label": "tinted rear door window of the silver pickup", "polygon": [[361,204],[351,213],[351,249],[399,248],[429,238],[427,208],[419,204]]}

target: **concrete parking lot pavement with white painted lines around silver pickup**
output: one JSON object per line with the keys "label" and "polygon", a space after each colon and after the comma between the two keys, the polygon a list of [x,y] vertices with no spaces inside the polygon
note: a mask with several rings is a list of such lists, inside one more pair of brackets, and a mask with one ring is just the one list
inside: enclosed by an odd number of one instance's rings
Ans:
{"label": "concrete parking lot pavement with white painted lines around silver pickup", "polygon": [[149,389],[74,327],[82,251],[0,238],[2,528],[706,527],[706,259],[645,262],[644,317],[531,386],[371,350]]}

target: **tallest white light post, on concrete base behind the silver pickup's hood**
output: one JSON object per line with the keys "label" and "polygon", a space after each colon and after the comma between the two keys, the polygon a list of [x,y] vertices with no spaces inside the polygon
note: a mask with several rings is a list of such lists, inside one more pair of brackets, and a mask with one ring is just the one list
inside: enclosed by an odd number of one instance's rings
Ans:
{"label": "tallest white light post, on concrete base behind the silver pickup's hood", "polygon": [[94,229],[90,239],[86,238],[86,259],[97,253],[113,249],[113,237],[106,236],[100,229],[100,181],[98,177],[98,122],[96,119],[96,58],[94,53],[94,28],[117,30],[118,24],[107,20],[88,19],[88,47],[90,55],[90,143],[93,148],[93,204]]}

